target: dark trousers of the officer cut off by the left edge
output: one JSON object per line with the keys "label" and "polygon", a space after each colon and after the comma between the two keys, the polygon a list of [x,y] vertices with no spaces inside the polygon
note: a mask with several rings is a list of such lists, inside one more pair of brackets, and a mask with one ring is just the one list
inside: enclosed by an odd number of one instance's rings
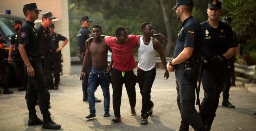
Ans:
{"label": "dark trousers of the officer cut off by the left edge", "polygon": [[2,50],[0,50],[0,85],[3,87],[3,89],[7,89],[6,64],[3,59]]}

